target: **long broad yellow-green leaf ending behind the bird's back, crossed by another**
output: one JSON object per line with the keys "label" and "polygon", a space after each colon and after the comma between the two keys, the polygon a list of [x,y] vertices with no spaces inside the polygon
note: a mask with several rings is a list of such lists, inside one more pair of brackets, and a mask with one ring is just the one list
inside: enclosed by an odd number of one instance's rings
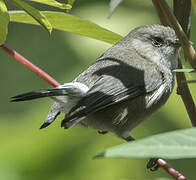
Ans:
{"label": "long broad yellow-green leaf ending behind the bird's back, crossed by another", "polygon": [[[51,22],[52,27],[62,31],[68,31],[97,40],[101,40],[107,43],[115,44],[122,36],[109,31],[97,24],[90,21],[78,18],[76,16],[69,15],[67,13],[60,12],[42,12]],[[10,20],[13,22],[35,24],[37,22],[27,16],[23,11],[9,11]]]}

